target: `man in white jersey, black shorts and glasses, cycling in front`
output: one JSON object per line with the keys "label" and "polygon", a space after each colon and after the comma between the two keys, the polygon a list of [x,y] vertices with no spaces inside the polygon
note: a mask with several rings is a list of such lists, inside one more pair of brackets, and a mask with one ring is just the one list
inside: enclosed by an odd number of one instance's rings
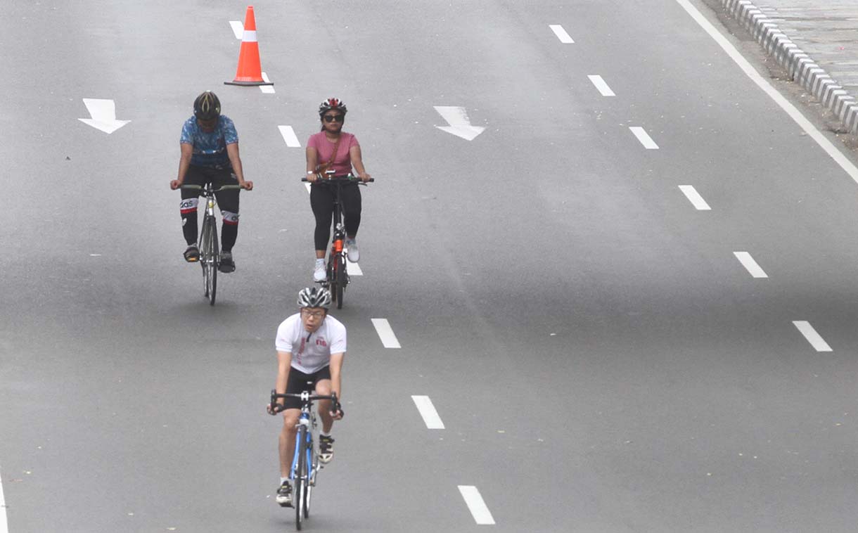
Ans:
{"label": "man in white jersey, black shorts and glasses, cycling in front", "polygon": [[[346,354],[346,326],[328,316],[330,293],[326,288],[305,288],[298,294],[300,312],[284,320],[277,328],[277,394],[315,391],[329,396],[333,391],[342,397],[341,369]],[[289,469],[295,453],[295,434],[300,411],[296,397],[279,398],[284,406],[283,428],[280,433],[280,487],[276,501],[281,506],[292,506],[292,486]],[[269,413],[274,406],[269,406]],[[334,458],[334,439],[330,436],[335,420],[342,418],[342,410],[331,412],[330,400],[318,403],[322,418],[319,435],[319,461],[329,463]]]}

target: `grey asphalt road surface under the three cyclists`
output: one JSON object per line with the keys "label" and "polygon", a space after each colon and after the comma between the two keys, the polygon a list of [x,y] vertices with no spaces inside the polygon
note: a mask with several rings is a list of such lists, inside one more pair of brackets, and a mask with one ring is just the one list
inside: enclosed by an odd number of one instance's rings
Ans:
{"label": "grey asphalt road surface under the three cyclists", "polygon": [[[222,84],[245,4],[8,4],[3,533],[293,530],[263,409],[329,96],[376,182],[307,530],[855,530],[858,185],[679,1],[261,0],[274,93]],[[214,307],[168,187],[204,89],[256,184]]]}

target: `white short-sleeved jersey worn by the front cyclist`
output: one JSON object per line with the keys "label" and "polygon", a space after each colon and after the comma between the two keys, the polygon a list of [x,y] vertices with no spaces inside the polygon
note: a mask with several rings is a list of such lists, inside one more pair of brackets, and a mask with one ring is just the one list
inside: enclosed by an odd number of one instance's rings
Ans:
{"label": "white short-sleeved jersey worn by the front cyclist", "polygon": [[311,374],[330,363],[330,354],[346,353],[346,326],[330,315],[318,330],[307,333],[300,313],[284,320],[277,328],[275,348],[292,354],[292,367]]}

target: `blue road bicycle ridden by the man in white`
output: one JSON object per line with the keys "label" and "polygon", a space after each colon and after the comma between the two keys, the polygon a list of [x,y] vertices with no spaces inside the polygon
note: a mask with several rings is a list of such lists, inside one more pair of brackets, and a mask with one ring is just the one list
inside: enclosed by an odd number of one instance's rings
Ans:
{"label": "blue road bicycle ridden by the man in white", "polygon": [[322,465],[319,463],[319,451],[317,445],[317,416],[312,409],[313,402],[317,400],[330,400],[331,410],[342,413],[342,407],[336,400],[336,392],[330,396],[320,396],[307,391],[301,393],[277,394],[271,391],[271,409],[269,413],[275,415],[284,408],[277,404],[279,398],[297,397],[301,400],[301,415],[298,419],[298,433],[295,434],[295,454],[292,459],[292,468],[289,469],[289,479],[292,480],[292,505],[295,508],[295,528],[300,530],[305,518],[310,518],[310,499],[313,487],[316,486],[316,475]]}

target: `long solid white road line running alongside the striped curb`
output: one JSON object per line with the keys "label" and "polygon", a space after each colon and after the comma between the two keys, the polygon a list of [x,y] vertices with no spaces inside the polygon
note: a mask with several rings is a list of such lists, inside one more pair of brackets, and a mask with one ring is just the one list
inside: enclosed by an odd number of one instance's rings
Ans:
{"label": "long solid white road line running alongside the striped curb", "polygon": [[789,103],[789,100],[784,98],[782,94],[778,93],[763,76],[760,76],[751,64],[748,63],[747,59],[743,58],[739,51],[737,51],[721,33],[718,33],[718,30],[712,26],[710,21],[706,20],[704,15],[700,14],[700,11],[698,11],[697,8],[695,8],[688,0],[676,1],[688,12],[688,15],[692,15],[692,18],[697,21],[700,27],[703,27],[706,33],[709,33],[712,39],[715,39],[715,42],[727,52],[727,55],[733,59],[737,65],[739,65],[739,68],[745,72],[749,78],[751,78],[751,81],[756,83],[758,88],[763,89],[764,93],[768,94],[771,100],[775,100],[775,103],[780,106],[783,111],[787,112],[789,117],[795,120],[795,123],[799,124],[801,129],[805,130],[805,133],[816,141],[820,148],[825,150],[826,154],[831,156],[831,159],[837,161],[837,165],[840,165],[840,167],[855,180],[855,183],[858,183],[858,167],[855,167],[855,165],[852,164],[852,161],[849,161],[849,159],[847,159],[840,150],[831,144],[831,141],[825,138],[819,130],[813,127],[813,124],[811,124],[807,118],[804,118],[804,115],[802,115],[795,106]]}

